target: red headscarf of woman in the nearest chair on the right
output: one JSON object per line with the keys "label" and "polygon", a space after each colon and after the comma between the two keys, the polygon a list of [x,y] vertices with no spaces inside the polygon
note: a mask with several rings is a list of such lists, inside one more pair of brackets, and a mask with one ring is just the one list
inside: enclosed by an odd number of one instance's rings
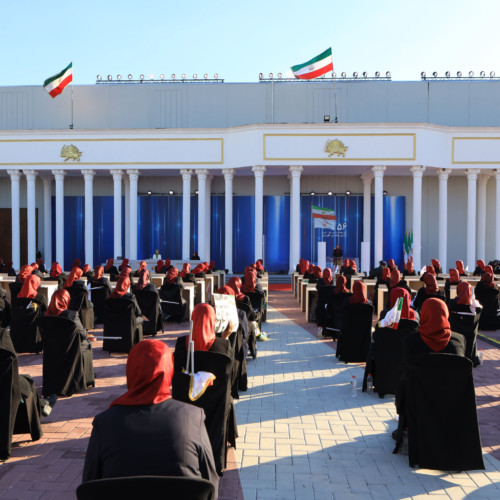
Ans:
{"label": "red headscarf of woman in the nearest chair on the right", "polygon": [[420,311],[419,333],[434,352],[442,351],[450,341],[451,328],[448,307],[441,299],[427,299]]}

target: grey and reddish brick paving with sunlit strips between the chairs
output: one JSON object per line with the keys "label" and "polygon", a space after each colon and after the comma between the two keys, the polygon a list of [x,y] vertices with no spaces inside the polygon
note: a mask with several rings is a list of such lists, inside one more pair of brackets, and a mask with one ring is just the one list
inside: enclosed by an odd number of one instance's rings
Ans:
{"label": "grey and reddish brick paving with sunlit strips between the chairs", "polygon": [[[352,398],[349,381],[363,365],[338,363],[328,341],[311,334],[291,292],[270,294],[272,306],[249,360],[249,391],[236,404],[240,438],[221,481],[222,500],[257,498],[500,498],[500,350],[480,343],[485,364],[475,370],[478,414],[487,470],[467,474],[410,469],[392,455],[393,399]],[[187,324],[169,325],[169,345]],[[75,498],[91,422],[125,391],[126,356],[108,356],[95,343],[95,389],[61,399],[44,419],[44,437],[15,436],[13,457],[0,465],[0,499]],[[22,372],[41,386],[41,357],[21,355]]]}

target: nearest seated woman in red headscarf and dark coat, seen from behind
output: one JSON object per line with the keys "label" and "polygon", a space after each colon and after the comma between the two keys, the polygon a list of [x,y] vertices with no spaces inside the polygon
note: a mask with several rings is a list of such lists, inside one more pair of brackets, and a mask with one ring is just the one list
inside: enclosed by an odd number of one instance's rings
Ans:
{"label": "nearest seated woman in red headscarf and dark coat, seen from behind", "polygon": [[160,340],[135,345],[127,360],[127,392],[94,418],[83,482],[156,475],[209,480],[218,490],[212,446],[201,408],[172,399],[173,355]]}

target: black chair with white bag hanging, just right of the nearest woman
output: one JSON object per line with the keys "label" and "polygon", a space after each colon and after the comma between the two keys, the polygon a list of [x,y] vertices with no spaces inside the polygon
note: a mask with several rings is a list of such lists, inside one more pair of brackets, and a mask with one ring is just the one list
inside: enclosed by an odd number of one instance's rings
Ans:
{"label": "black chair with white bag hanging, just right of the nearest woman", "polygon": [[219,475],[226,467],[227,443],[236,445],[236,423],[231,398],[232,361],[229,356],[213,352],[194,353],[195,370],[215,375],[213,385],[196,401],[189,399],[190,377],[183,373],[186,365],[186,337],[179,337],[174,352],[172,397],[205,410],[208,437],[212,443],[215,467]]}

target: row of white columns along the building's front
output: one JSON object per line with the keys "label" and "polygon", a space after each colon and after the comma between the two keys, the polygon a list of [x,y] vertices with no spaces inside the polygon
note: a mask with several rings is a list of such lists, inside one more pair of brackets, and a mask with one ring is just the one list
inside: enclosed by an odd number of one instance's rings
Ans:
{"label": "row of white columns along the building's front", "polygon": [[[422,177],[425,167],[416,165],[410,168],[413,178],[413,260],[416,270],[420,270],[421,262],[421,238],[422,238]],[[265,166],[254,166],[255,183],[255,260],[263,258],[263,199],[264,199],[264,176]],[[290,268],[293,270],[295,264],[301,257],[300,253],[300,179],[304,171],[302,166],[294,165],[289,168],[290,178]],[[85,255],[86,263],[94,264],[93,257],[93,181],[95,170],[82,170],[85,184]],[[113,253],[114,256],[126,255],[131,260],[137,259],[137,192],[139,170],[109,171],[113,177],[114,196],[114,224],[113,224]],[[383,258],[383,181],[386,166],[375,165],[371,173],[363,174],[363,243],[370,244],[371,239],[371,184],[374,180],[374,264]],[[12,261],[15,269],[20,265],[20,179],[24,175],[27,181],[27,222],[28,222],[28,262],[34,262],[36,258],[36,211],[35,211],[35,183],[38,172],[36,170],[8,170],[11,180],[11,209],[12,209]],[[52,170],[55,179],[56,199],[56,251],[55,258],[64,269],[64,170]],[[196,169],[180,170],[183,186],[182,201],[182,259],[190,258],[190,198],[191,181],[193,175],[197,176],[198,182],[198,245],[197,251],[203,260],[210,260],[210,186],[215,173],[213,170]],[[447,263],[447,204],[448,204],[448,177],[450,169],[437,169],[439,179],[439,240],[438,258],[443,270],[448,269]],[[232,272],[232,213],[233,213],[233,179],[234,169],[223,169],[225,181],[225,268]],[[476,257],[485,258],[486,240],[486,186],[491,172],[481,173],[479,169],[468,169],[466,171],[468,195],[467,195],[467,251],[466,265],[474,269]],[[494,171],[496,179],[496,238],[495,255],[500,256],[500,170]],[[51,184],[50,172],[40,175],[44,183],[44,253],[46,256],[52,254],[52,234],[50,231],[52,223],[51,215]],[[477,183],[479,181],[479,186]],[[122,248],[122,183],[125,183],[125,248]],[[477,192],[479,191],[479,196]],[[478,199],[477,199],[478,198]],[[476,238],[476,220],[477,238]],[[477,254],[476,254],[477,251]],[[50,258],[50,257],[49,257]],[[363,269],[367,270],[367,269]]]}

